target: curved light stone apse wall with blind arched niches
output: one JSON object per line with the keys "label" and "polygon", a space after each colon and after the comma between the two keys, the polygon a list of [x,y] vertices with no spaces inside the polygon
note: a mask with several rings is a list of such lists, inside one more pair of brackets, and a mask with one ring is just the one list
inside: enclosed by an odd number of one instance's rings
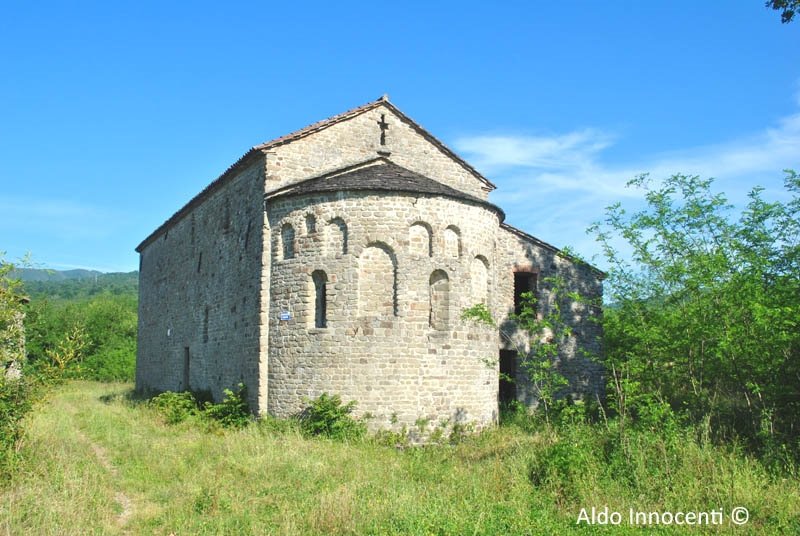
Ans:
{"label": "curved light stone apse wall with blind arched niches", "polygon": [[[271,414],[291,415],[328,392],[356,400],[373,428],[496,419],[497,367],[486,362],[497,354],[497,332],[460,320],[472,305],[474,260],[494,258],[496,211],[424,195],[339,192],[277,197],[268,215],[271,228],[295,230],[289,259],[284,237],[272,237]],[[325,328],[315,327],[312,274],[320,272]]]}

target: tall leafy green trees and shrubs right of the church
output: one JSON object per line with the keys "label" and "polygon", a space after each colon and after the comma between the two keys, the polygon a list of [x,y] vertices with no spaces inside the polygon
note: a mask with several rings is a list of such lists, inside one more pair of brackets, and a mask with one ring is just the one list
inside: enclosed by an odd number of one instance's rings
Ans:
{"label": "tall leafy green trees and shrubs right of the church", "polygon": [[[593,227],[611,266],[604,334],[620,430],[671,410],[764,449],[800,434],[800,178],[786,203],[760,188],[738,220],[711,180],[646,176],[647,206]],[[631,252],[615,247],[624,239]],[[772,447],[770,447],[772,448]]]}

